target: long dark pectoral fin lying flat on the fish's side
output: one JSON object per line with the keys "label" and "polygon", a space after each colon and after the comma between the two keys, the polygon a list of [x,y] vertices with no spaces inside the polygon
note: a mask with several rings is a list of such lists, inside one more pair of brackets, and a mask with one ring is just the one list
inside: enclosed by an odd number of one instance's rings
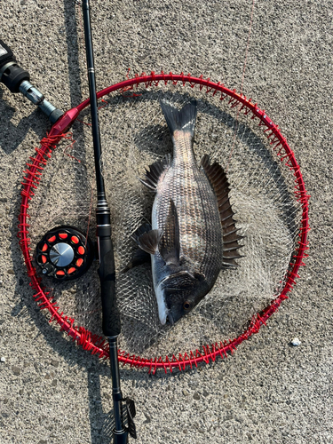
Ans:
{"label": "long dark pectoral fin lying flat on the fish's side", "polygon": [[166,264],[179,265],[179,224],[175,203],[170,200],[159,251]]}

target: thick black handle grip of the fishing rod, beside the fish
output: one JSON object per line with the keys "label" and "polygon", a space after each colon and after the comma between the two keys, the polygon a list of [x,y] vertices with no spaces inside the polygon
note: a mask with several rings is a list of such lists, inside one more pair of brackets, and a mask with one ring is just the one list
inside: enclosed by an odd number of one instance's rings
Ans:
{"label": "thick black handle grip of the fishing rod, beside the fish", "polygon": [[110,238],[99,237],[99,281],[102,299],[102,328],[106,337],[120,334],[120,312],[115,297],[115,258]]}

